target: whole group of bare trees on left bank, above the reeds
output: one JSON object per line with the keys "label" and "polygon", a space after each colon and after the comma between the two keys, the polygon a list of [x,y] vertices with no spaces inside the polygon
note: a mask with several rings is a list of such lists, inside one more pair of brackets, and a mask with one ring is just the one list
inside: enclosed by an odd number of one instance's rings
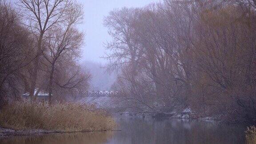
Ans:
{"label": "whole group of bare trees on left bank, above the reeds", "polygon": [[36,88],[50,99],[88,88],[77,63],[83,12],[76,0],[0,0],[0,104]]}

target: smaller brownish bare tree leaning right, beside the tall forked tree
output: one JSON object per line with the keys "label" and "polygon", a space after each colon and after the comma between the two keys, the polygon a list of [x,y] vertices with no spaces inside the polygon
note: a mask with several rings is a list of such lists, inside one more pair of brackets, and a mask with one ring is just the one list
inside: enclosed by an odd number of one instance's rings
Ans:
{"label": "smaller brownish bare tree leaning right, beside the tall forked tree", "polygon": [[50,76],[48,82],[49,99],[52,97],[53,74],[56,63],[67,59],[77,59],[80,57],[80,47],[84,43],[84,34],[75,28],[83,18],[81,5],[74,4],[70,7],[66,20],[60,28],[49,31],[45,38],[44,58],[50,63]]}

